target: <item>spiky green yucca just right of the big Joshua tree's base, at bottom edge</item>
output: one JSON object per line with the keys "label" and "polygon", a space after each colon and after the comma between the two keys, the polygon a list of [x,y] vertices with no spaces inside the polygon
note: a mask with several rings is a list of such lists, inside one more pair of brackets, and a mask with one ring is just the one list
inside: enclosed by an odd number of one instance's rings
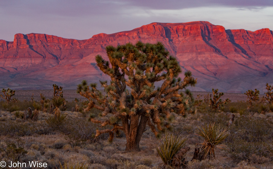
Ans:
{"label": "spiky green yucca just right of the big Joshua tree's base, at bottom edge", "polygon": [[[159,157],[163,163],[159,164],[160,168],[172,168],[172,160],[174,155],[185,146],[187,137],[175,135],[174,133],[165,134],[158,147],[156,148]],[[185,154],[186,155],[186,154]]]}

